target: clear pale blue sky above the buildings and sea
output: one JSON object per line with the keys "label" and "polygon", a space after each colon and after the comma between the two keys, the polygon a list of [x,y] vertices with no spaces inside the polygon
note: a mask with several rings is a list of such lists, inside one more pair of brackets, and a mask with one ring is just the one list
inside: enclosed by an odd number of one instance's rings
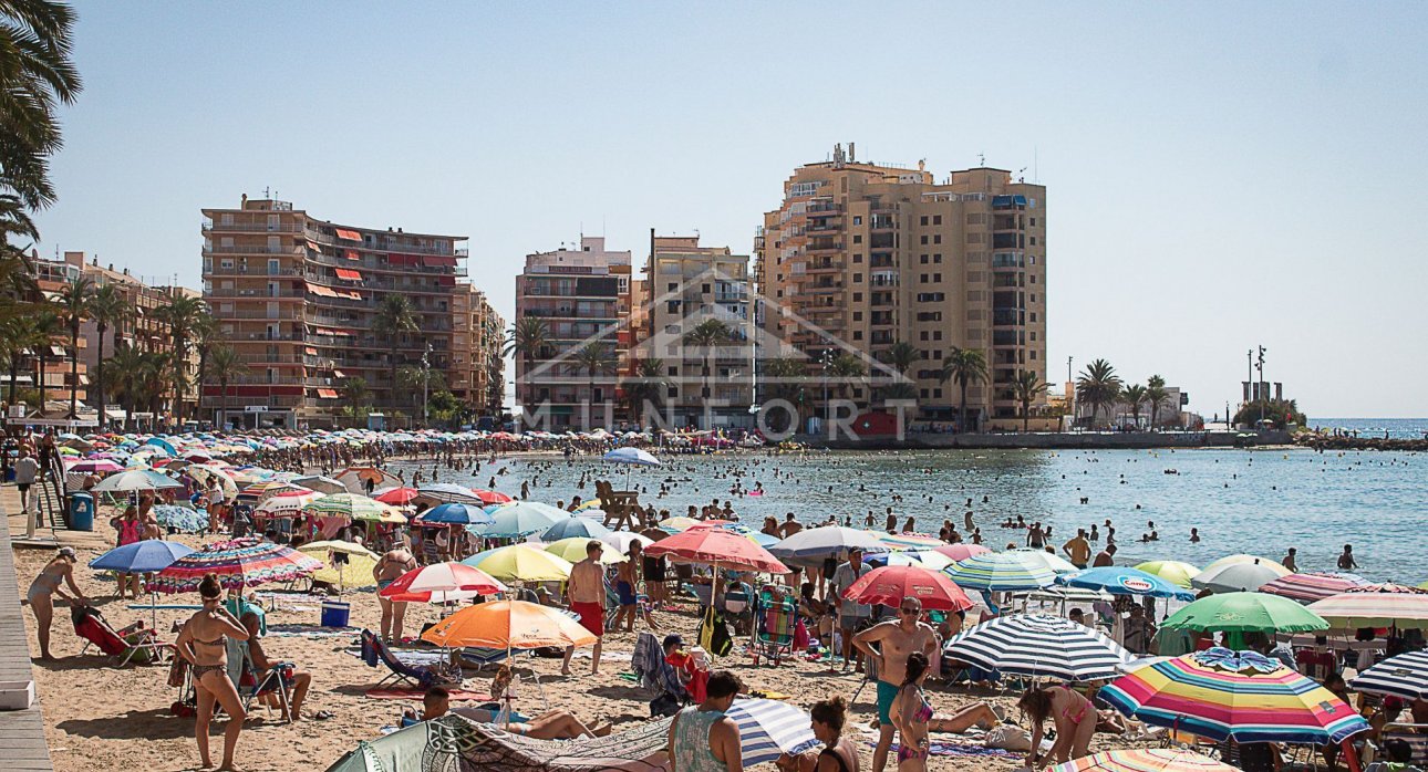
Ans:
{"label": "clear pale blue sky above the buildings and sea", "polygon": [[1105,358],[1210,418],[1264,345],[1311,420],[1428,414],[1425,4],[76,7],[44,254],[198,287],[200,208],[268,188],[468,235],[510,318],[524,255],[581,233],[751,253],[835,143],[985,156],[1048,188],[1052,384]]}

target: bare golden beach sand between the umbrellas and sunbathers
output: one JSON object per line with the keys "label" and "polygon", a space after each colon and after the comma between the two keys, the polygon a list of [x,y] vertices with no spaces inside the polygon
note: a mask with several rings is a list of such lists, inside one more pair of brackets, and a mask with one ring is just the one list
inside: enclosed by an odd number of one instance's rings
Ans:
{"label": "bare golden beach sand between the umbrellas and sunbathers", "polygon": [[[96,518],[96,527],[106,539],[110,539],[109,544],[113,544],[107,515]],[[178,541],[197,547],[201,539],[178,537]],[[96,605],[116,628],[139,619],[149,619],[147,611],[130,611],[127,601],[123,604],[116,601],[114,585],[111,582],[101,584],[84,567],[97,554],[93,549],[80,554],[76,578],[84,592],[97,601]],[[16,551],[21,596],[46,559],[49,559],[47,552]],[[277,588],[260,586],[258,589]],[[378,606],[370,591],[348,591],[346,599],[353,604],[353,625],[377,628]],[[163,601],[191,604],[197,602],[197,594],[167,596]],[[268,612],[270,625],[317,626],[320,612],[316,605],[301,604],[310,606],[307,609],[288,609],[284,608],[286,605],[280,601],[278,609]],[[691,611],[655,614],[661,634],[680,632],[687,641],[694,641],[697,619],[693,615],[693,602],[685,605]],[[160,611],[159,628],[167,635],[171,624],[186,619],[190,614],[188,611]],[[437,606],[411,604],[407,612],[408,631],[420,631],[423,622],[431,622],[437,618]],[[37,654],[34,616],[29,609],[26,609],[26,622],[30,651]],[[645,629],[643,622],[635,626],[635,632],[640,629]],[[276,711],[270,713],[264,708],[256,706],[238,742],[237,761],[243,769],[280,772],[324,769],[354,748],[357,741],[373,738],[381,726],[396,723],[401,708],[416,702],[364,696],[367,688],[378,681],[384,671],[367,668],[360,659],[341,652],[344,646],[353,645],[356,638],[356,631],[351,631],[348,635],[336,638],[270,635],[264,639],[264,648],[270,658],[297,662],[301,669],[313,672],[313,691],[304,712],[311,715],[317,711],[327,711],[333,718],[283,723]],[[545,705],[541,692],[530,685],[530,668],[534,668],[541,675],[541,681],[545,682],[544,696],[548,698],[550,705],[573,711],[587,723],[607,718],[620,719],[621,716],[625,721],[643,721],[648,716],[648,699],[653,695],[637,684],[618,678],[621,671],[630,669],[628,655],[634,648],[634,639],[635,634],[608,635],[604,648],[610,656],[603,662],[598,675],[588,674],[590,659],[577,658],[573,662],[577,675],[561,678],[558,659],[520,658],[521,666],[517,672],[523,674],[526,688],[517,709],[526,713],[538,713]],[[60,772],[194,769],[198,756],[193,739],[193,719],[176,718],[170,713],[170,705],[178,695],[177,689],[167,685],[169,668],[130,665],[116,669],[111,661],[93,651],[80,656],[81,646],[83,641],[74,635],[70,625],[69,609],[66,606],[57,608],[51,651],[59,661],[36,662],[34,666],[44,711],[46,739],[50,745],[54,769]],[[755,668],[747,655],[738,655],[720,659],[718,665],[734,666],[748,688],[788,694],[791,695],[790,702],[803,708],[833,694],[851,698],[861,682],[861,676],[834,674],[828,671],[827,665],[803,659],[785,661],[778,668],[767,665]],[[484,692],[487,679],[487,675],[471,679],[467,682],[467,688]],[[1010,715],[1015,715],[1012,709],[1014,695],[968,694],[961,689],[950,691],[944,686],[932,686],[930,696],[938,712],[951,712],[957,706],[985,699],[1005,706]],[[874,715],[873,699],[874,688],[870,685],[863,689],[854,704],[851,721],[860,725],[860,729]],[[214,759],[220,758],[223,726],[223,721],[213,725]],[[934,735],[934,739],[957,742],[958,738],[955,735]],[[1092,751],[1124,745],[1120,738],[1112,735],[1097,735]],[[863,768],[871,769],[871,746],[861,748],[861,753]],[[935,756],[931,762],[931,769],[1010,771],[1020,766],[1020,759]],[[767,768],[773,769],[771,765]],[[890,763],[888,769],[894,768]]]}

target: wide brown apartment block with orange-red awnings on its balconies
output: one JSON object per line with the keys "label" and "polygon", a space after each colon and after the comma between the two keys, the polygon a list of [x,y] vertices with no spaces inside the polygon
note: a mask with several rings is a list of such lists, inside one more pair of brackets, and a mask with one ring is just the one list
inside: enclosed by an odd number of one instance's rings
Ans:
{"label": "wide brown apartment block with orange-red awnings on its balconies", "polygon": [[[247,195],[203,214],[204,298],[250,370],[230,381],[226,400],[216,381],[204,384],[206,418],[226,401],[230,422],[247,427],[333,425],[353,401],[346,387],[360,378],[363,402],[388,425],[398,414],[420,420],[421,388],[391,380],[393,342],[398,368],[420,368],[426,355],[470,407],[484,407],[470,362],[490,361],[474,347],[493,341],[471,334],[464,235],[336,224]],[[394,341],[377,324],[393,294],[411,303],[417,324]]]}

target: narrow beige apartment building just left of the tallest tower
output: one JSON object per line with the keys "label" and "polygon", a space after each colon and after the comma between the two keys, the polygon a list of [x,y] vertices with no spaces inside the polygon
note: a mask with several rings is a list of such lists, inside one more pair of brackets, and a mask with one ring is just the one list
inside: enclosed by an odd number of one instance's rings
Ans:
{"label": "narrow beige apartment building just left of the tallest tower", "polygon": [[[697,235],[654,235],[644,267],[643,337],[631,362],[664,367],[664,415],[675,427],[750,427],[754,402],[748,255],[701,247]],[[701,324],[724,338],[695,340]],[[694,334],[694,335],[691,335]]]}

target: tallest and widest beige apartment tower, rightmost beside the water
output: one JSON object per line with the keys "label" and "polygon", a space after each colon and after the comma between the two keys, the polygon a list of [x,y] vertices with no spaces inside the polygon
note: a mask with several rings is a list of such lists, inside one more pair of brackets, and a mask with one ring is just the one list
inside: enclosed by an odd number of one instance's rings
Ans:
{"label": "tallest and widest beige apartment tower, rightmost beside the water", "polygon": [[[861,163],[853,144],[840,146],[831,161],[797,168],[764,215],[755,321],[797,348],[811,375],[825,351],[850,351],[887,382],[873,362],[912,344],[914,420],[942,425],[955,422],[961,398],[955,382],[938,381],[944,358],[952,347],[981,350],[991,380],[968,388],[968,424],[1010,420],[1020,414],[1017,372],[1047,374],[1045,234],[1045,187],[1011,171],[938,180],[921,161]],[[878,408],[877,388],[851,384],[843,397]],[[810,391],[820,404],[823,392]]]}

